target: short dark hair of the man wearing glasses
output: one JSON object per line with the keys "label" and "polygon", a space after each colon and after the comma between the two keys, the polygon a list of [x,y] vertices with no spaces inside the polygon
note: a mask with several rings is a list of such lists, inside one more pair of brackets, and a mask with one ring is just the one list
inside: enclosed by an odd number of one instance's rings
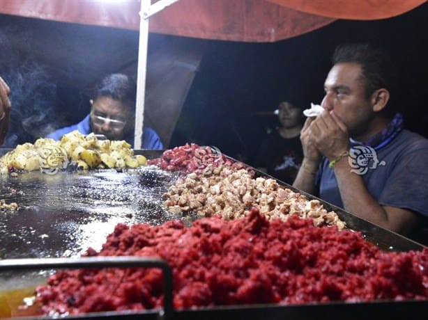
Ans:
{"label": "short dark hair of the man wearing glasses", "polygon": [[137,84],[126,74],[109,74],[95,85],[93,100],[98,97],[111,97],[133,108],[137,99]]}

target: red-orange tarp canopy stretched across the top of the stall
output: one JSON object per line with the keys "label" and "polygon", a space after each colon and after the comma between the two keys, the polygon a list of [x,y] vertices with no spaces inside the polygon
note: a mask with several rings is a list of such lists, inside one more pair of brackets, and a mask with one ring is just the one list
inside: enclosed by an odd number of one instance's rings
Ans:
{"label": "red-orange tarp canopy stretched across the top of the stall", "polygon": [[[156,1],[153,1],[153,3]],[[150,18],[150,31],[192,38],[275,42],[335,19],[383,19],[425,0],[178,0]],[[138,0],[2,0],[0,12],[61,22],[139,29]]]}

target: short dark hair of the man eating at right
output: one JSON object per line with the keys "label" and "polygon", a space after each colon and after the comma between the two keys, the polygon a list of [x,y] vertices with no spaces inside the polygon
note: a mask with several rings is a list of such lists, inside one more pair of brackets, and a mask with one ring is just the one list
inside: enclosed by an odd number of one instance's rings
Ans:
{"label": "short dark hair of the man eating at right", "polygon": [[395,91],[397,70],[389,54],[369,43],[341,45],[335,49],[332,58],[336,63],[358,63],[362,70],[362,81],[365,85],[367,99],[374,91],[385,88]]}

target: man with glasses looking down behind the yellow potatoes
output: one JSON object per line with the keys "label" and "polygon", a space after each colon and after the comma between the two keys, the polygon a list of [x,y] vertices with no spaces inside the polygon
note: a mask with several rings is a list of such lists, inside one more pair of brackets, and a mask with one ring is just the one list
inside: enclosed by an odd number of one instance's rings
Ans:
{"label": "man with glasses looking down behind the yellow potatoes", "polygon": [[[135,81],[125,74],[110,74],[95,86],[91,112],[76,125],[63,127],[48,134],[46,138],[60,140],[64,134],[78,130],[81,134],[102,134],[109,140],[125,140],[134,145]],[[143,129],[143,149],[162,150],[163,145],[156,132]]]}

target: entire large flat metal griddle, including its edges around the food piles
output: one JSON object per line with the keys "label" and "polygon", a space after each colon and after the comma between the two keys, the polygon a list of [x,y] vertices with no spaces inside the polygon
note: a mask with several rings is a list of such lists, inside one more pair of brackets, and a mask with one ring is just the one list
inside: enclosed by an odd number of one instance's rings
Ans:
{"label": "entire large flat metal griddle, including its edges around the food piles", "polygon": [[[162,154],[153,150],[137,150],[136,153],[144,154],[148,159]],[[263,175],[255,171],[257,175]],[[17,177],[1,175],[0,198],[6,202],[17,202],[20,210],[0,212],[0,259],[35,258],[42,262],[43,258],[79,257],[89,247],[99,250],[117,223],[159,225],[171,219],[191,223],[194,217],[171,214],[163,206],[161,195],[174,184],[178,175],[154,166],[119,171],[63,171],[56,175],[40,172],[20,173]],[[309,200],[316,199],[306,195]],[[362,232],[381,248],[403,251],[424,248],[420,243],[338,207],[323,201],[321,203],[326,209],[336,211],[349,228]],[[1,269],[0,290],[28,287],[34,279],[44,280],[46,276],[46,271],[40,271],[40,268],[31,272]],[[386,317],[385,312],[390,319],[408,319],[408,316],[417,314],[425,307],[425,301],[252,305],[175,312],[174,319],[339,319],[337,310],[342,310],[345,316],[341,319],[360,319],[365,313],[367,319],[380,319]],[[330,312],[329,317],[326,312]],[[158,315],[157,311],[120,315],[104,312],[91,318],[158,319]]]}

